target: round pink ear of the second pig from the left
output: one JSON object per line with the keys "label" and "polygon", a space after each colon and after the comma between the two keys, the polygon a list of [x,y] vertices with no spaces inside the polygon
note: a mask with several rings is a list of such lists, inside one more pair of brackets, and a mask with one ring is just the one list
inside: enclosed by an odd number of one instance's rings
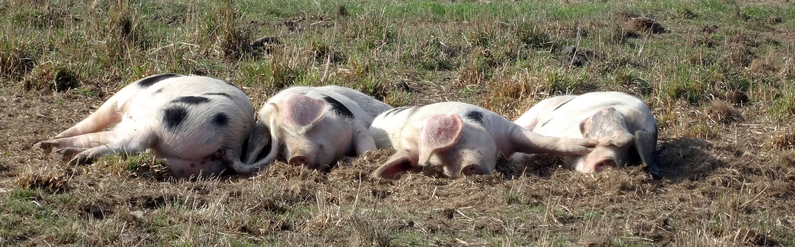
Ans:
{"label": "round pink ear of the second pig from the left", "polygon": [[325,102],[303,94],[290,94],[278,103],[281,121],[297,127],[308,126],[326,112]]}

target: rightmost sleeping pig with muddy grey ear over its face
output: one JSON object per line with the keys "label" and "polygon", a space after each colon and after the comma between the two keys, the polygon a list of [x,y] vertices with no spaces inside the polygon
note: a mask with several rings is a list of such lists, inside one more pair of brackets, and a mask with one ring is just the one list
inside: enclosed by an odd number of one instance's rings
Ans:
{"label": "rightmost sleeping pig with muddy grey ear over its face", "polygon": [[[587,155],[564,158],[569,169],[595,173],[621,168],[638,158],[653,177],[660,177],[655,158],[657,121],[646,103],[629,93],[594,92],[551,97],[538,102],[515,124],[540,135],[596,139]],[[513,161],[522,158],[514,154]]]}

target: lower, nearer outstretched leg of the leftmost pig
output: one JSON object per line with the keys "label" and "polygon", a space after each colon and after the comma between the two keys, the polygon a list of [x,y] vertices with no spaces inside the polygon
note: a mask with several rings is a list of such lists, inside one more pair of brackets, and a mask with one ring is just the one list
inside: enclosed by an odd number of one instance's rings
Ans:
{"label": "lower, nearer outstretched leg of the leftmost pig", "polygon": [[69,165],[83,165],[95,161],[105,154],[136,154],[145,151],[155,142],[153,135],[137,135],[119,139],[117,142],[84,150],[69,161]]}

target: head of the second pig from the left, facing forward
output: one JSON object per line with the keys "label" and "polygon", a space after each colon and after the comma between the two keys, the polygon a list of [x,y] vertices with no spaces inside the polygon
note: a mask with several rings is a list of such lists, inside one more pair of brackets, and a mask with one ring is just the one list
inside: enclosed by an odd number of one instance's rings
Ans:
{"label": "head of the second pig from the left, facing forward", "polygon": [[273,108],[271,145],[283,145],[271,152],[279,152],[288,164],[320,169],[351,151],[352,120],[330,110],[326,101],[296,93],[268,107]]}

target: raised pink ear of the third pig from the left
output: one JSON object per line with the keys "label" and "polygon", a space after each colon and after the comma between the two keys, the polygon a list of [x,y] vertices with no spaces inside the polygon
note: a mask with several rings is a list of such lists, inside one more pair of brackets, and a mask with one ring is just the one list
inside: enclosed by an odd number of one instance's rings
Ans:
{"label": "raised pink ear of the third pig from the left", "polygon": [[457,114],[438,114],[426,118],[420,133],[420,164],[428,162],[434,151],[456,144],[462,126],[461,117]]}

